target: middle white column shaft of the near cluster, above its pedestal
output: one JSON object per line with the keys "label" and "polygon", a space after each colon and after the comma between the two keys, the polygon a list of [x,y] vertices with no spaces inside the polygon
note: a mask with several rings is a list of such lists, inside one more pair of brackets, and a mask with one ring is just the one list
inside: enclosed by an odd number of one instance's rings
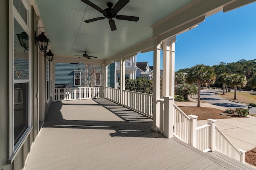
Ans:
{"label": "middle white column shaft of the near cluster, above its pedestal", "polygon": [[[163,96],[169,96],[170,89],[170,40],[162,41],[163,51]],[[155,69],[154,69],[155,70]]]}

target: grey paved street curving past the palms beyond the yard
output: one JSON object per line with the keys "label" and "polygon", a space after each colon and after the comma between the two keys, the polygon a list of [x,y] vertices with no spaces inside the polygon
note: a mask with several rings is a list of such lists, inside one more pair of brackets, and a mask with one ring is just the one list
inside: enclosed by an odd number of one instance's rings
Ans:
{"label": "grey paved street curving past the palms beyond the yard", "polygon": [[[227,109],[244,108],[248,109],[248,104],[241,104],[238,102],[232,102],[230,100],[222,98],[220,95],[214,94],[215,92],[223,92],[223,90],[201,90],[200,100],[204,100],[210,104],[226,107]],[[252,107],[249,113],[256,115],[256,107]]]}

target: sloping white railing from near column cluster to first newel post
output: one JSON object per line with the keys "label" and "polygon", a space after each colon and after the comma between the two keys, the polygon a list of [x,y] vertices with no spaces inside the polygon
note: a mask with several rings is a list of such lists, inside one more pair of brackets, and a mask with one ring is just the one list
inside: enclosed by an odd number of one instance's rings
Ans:
{"label": "sloping white railing from near column cluster to first newel post", "polygon": [[174,104],[174,136],[186,143],[189,143],[190,139],[190,121],[190,118]]}

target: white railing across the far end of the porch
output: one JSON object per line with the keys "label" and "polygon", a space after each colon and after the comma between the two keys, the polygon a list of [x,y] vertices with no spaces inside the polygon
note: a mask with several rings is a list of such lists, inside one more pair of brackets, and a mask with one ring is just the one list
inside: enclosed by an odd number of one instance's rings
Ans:
{"label": "white railing across the far end of the porch", "polygon": [[100,98],[100,87],[55,88],[54,100],[81,100]]}

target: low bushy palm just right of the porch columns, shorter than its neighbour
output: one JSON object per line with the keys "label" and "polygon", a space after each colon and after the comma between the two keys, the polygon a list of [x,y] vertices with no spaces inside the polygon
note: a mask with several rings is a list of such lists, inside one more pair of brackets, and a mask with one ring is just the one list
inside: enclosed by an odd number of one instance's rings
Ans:
{"label": "low bushy palm just right of the porch columns, shorter than its neighbour", "polygon": [[191,97],[193,94],[196,94],[196,92],[197,89],[195,85],[182,83],[177,85],[175,94],[184,96],[184,100],[188,100],[188,96]]}

